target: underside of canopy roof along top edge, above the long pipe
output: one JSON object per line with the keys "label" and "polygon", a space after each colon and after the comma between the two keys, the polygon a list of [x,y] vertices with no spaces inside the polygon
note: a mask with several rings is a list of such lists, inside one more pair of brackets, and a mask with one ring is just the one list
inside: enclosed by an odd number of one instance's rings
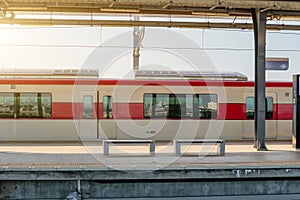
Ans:
{"label": "underside of canopy roof along top edge, above the long pipe", "polygon": [[5,12],[139,13],[249,16],[249,8],[272,11],[279,16],[298,16],[300,2],[294,0],[1,0]]}

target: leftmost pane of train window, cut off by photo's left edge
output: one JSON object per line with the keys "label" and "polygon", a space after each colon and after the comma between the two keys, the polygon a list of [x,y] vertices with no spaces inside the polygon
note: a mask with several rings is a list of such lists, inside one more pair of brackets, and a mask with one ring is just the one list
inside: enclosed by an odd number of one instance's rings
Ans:
{"label": "leftmost pane of train window, cut off by photo's left edge", "polygon": [[0,117],[14,118],[15,98],[13,93],[0,93]]}

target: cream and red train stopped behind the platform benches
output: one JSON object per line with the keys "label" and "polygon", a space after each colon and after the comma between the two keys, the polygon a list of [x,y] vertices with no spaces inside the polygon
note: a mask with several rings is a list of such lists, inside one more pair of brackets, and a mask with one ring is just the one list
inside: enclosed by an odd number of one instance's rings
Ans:
{"label": "cream and red train stopped behind the platform benches", "polygon": [[[254,82],[236,74],[0,73],[0,141],[253,140]],[[292,138],[292,83],[266,83],[266,139]]]}

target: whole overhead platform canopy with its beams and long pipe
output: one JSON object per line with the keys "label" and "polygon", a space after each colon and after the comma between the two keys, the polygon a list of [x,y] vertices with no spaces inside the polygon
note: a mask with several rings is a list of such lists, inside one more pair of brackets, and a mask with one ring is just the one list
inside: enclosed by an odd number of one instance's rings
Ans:
{"label": "whole overhead platform canopy with its beams and long pipe", "polygon": [[[266,12],[268,19],[300,17],[300,2],[293,0],[0,0],[0,24],[252,28],[251,22],[239,23],[235,19],[251,20],[251,8]],[[105,15],[129,18],[106,20],[103,19]],[[140,22],[134,17],[140,17]],[[144,17],[165,17],[168,20],[143,20]],[[178,17],[180,21],[176,21]],[[201,17],[222,17],[231,19],[231,22],[220,25],[209,21],[197,25],[197,22],[190,21],[190,18]],[[284,24],[270,24],[267,28],[300,29]]]}

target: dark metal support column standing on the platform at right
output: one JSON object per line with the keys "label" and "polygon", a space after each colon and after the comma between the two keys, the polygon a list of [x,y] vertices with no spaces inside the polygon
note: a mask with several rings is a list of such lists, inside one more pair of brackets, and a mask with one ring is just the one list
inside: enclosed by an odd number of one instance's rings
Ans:
{"label": "dark metal support column standing on the platform at right", "polygon": [[258,151],[265,151],[266,130],[266,12],[251,9],[255,39],[255,144]]}

